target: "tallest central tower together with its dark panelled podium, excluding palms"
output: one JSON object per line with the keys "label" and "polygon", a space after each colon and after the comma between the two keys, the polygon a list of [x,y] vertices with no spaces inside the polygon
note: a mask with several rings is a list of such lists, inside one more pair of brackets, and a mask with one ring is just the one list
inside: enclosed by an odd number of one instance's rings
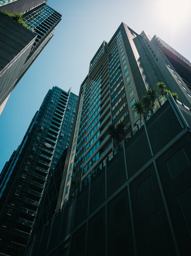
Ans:
{"label": "tallest central tower together with its dark panelled podium, excluding palms", "polygon": [[[57,212],[25,255],[188,254],[191,92],[181,71],[189,62],[173,52],[124,23],[102,43],[81,85]],[[140,122],[134,102],[158,81],[182,103],[167,93]],[[107,127],[120,122],[127,140],[118,147]]]}

